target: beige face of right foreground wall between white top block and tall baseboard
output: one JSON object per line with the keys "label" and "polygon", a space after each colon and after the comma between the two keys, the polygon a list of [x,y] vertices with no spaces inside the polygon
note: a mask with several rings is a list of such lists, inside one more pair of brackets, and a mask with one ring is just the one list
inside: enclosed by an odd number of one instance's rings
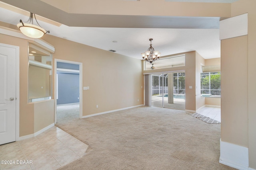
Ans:
{"label": "beige face of right foreground wall between white top block and tall baseboard", "polygon": [[248,147],[247,50],[247,35],[221,41],[221,140],[243,147]]}

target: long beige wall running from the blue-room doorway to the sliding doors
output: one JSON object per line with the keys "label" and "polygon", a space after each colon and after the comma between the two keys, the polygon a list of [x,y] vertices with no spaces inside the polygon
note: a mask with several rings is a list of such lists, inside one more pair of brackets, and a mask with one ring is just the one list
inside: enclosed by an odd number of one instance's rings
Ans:
{"label": "long beige wall running from the blue-room doorway to the sliding doors", "polygon": [[43,39],[55,47],[53,60],[83,63],[82,84],[90,87],[83,90],[83,116],[144,104],[141,60],[50,35]]}

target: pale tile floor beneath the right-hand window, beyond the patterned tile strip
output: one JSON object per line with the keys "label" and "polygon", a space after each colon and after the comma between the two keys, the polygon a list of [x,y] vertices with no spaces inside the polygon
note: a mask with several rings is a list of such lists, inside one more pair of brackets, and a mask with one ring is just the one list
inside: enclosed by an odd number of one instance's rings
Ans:
{"label": "pale tile floor beneath the right-hand window, beyond the patterned tile strip", "polygon": [[216,121],[220,121],[220,107],[204,106],[198,109],[196,113],[210,117]]}

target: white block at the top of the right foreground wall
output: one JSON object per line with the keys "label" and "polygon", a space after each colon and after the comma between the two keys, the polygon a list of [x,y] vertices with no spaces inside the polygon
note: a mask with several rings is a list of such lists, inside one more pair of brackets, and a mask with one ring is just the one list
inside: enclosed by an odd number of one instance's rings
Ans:
{"label": "white block at the top of the right foreground wall", "polygon": [[220,21],[220,40],[248,35],[248,13]]}

